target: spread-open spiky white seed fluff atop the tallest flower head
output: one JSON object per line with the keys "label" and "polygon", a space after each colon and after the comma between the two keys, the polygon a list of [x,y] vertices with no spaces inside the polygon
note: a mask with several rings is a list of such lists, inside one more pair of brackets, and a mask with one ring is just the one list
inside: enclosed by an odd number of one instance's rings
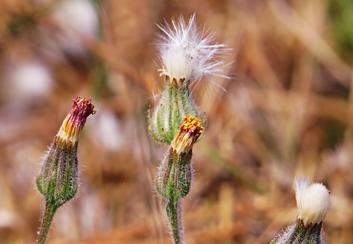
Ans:
{"label": "spread-open spiky white seed fluff atop the tallest flower head", "polygon": [[157,43],[162,61],[161,75],[168,75],[170,81],[185,78],[196,85],[204,78],[213,82],[214,75],[228,78],[222,74],[226,66],[223,58],[231,49],[225,48],[224,44],[211,45],[214,33],[205,28],[198,29],[196,24],[193,14],[188,24],[180,16],[177,22],[172,19],[172,26],[167,22],[164,26],[158,25],[163,31]]}

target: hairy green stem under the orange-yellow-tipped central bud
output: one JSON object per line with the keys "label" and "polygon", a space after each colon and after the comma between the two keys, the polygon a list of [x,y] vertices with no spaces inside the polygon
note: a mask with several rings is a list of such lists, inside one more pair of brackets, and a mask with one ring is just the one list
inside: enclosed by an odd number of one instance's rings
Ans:
{"label": "hairy green stem under the orange-yellow-tipped central bud", "polygon": [[166,211],[169,220],[169,226],[172,229],[174,243],[181,244],[181,226],[179,225],[178,217],[180,217],[180,208],[178,207],[179,201],[168,201]]}

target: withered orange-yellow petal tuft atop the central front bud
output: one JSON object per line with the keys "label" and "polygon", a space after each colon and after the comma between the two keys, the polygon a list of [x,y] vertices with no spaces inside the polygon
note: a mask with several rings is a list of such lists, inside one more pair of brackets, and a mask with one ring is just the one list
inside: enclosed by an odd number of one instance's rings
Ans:
{"label": "withered orange-yellow petal tuft atop the central front bud", "polygon": [[177,152],[177,155],[182,152],[187,154],[202,134],[202,130],[200,119],[191,115],[184,116],[184,122],[180,124],[180,129],[170,146]]}

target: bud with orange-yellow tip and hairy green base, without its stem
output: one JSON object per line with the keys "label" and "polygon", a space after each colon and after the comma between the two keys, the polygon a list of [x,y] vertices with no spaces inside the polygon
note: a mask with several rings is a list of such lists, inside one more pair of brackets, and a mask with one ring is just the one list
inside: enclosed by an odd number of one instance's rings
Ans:
{"label": "bud with orange-yellow tip and hairy green base, without its stem", "polygon": [[191,187],[192,146],[202,134],[201,120],[191,115],[184,117],[165,158],[158,167],[156,190],[170,202],[185,197]]}

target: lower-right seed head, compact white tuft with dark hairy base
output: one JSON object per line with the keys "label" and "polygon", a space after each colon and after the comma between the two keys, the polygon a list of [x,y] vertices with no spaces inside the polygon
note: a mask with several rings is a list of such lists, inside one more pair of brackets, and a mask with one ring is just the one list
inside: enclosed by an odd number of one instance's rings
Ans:
{"label": "lower-right seed head, compact white tuft with dark hairy base", "polygon": [[321,244],[322,222],[330,210],[329,190],[321,183],[309,185],[309,178],[295,178],[298,218],[270,244]]}

